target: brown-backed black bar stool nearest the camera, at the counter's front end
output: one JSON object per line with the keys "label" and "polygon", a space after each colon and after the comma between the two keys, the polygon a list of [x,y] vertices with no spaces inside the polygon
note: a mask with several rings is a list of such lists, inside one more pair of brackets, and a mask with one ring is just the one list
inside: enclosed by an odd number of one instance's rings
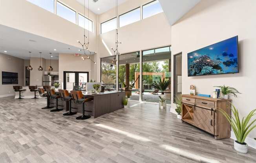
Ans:
{"label": "brown-backed black bar stool nearest the camera, at the counter's front end", "polygon": [[84,110],[84,103],[93,100],[93,98],[83,98],[83,94],[82,91],[70,91],[71,92],[71,96],[74,100],[74,103],[79,103],[82,104],[82,116],[77,117],[77,120],[86,120],[91,118],[91,116],[89,115],[85,115],[84,112],[92,112],[92,111],[88,111],[88,110]]}

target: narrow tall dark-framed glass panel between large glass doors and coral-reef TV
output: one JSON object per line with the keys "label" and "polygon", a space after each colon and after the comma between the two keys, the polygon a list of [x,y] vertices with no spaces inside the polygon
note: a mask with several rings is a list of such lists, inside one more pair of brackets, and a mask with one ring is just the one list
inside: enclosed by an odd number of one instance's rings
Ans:
{"label": "narrow tall dark-framed glass panel between large glass doors and coral-reef TV", "polygon": [[182,53],[174,55],[174,103],[177,95],[182,94]]}

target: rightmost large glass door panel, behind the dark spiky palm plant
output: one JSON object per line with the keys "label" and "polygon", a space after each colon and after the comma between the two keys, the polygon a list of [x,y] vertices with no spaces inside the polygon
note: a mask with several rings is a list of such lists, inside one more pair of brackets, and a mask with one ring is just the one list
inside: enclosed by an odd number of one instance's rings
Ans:
{"label": "rightmost large glass door panel, behind the dark spiky palm plant", "polygon": [[[160,90],[152,87],[152,84],[160,80],[171,81],[171,47],[161,47],[142,52],[142,100],[158,102]],[[171,89],[168,85],[166,91],[166,103],[171,104]]]}

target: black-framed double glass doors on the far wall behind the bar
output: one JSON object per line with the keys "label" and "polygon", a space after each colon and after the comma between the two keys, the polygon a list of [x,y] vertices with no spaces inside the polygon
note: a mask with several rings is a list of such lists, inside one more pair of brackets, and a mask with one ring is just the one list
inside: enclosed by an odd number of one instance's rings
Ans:
{"label": "black-framed double glass doors on the far wall behind the bar", "polygon": [[89,82],[89,72],[64,71],[64,89],[85,89],[86,82]]}

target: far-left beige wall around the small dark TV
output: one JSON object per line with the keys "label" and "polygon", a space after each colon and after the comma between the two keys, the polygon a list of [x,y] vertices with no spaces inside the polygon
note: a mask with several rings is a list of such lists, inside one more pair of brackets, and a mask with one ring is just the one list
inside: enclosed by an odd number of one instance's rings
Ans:
{"label": "far-left beige wall around the small dark TV", "polygon": [[2,85],[2,71],[18,72],[18,84],[24,85],[24,60],[0,53],[0,97],[3,95],[14,94],[14,85]]}

